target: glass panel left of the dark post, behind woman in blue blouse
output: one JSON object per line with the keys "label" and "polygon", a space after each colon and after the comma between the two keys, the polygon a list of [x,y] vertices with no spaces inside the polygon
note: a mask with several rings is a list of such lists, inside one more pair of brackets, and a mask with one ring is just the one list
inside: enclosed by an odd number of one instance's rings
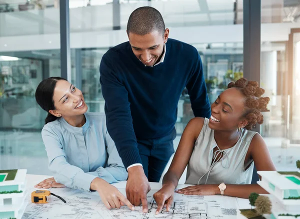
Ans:
{"label": "glass panel left of the dark post, behind woman in blue blouse", "polygon": [[38,83],[60,76],[59,8],[53,1],[0,5],[0,169],[51,174],[41,139]]}

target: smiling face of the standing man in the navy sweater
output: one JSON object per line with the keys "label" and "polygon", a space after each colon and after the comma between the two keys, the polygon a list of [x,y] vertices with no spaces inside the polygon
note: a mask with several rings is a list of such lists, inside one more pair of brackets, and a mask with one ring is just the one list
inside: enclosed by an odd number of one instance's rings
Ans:
{"label": "smiling face of the standing man in the navy sweater", "polygon": [[169,30],[164,35],[157,30],[145,35],[129,32],[128,38],[134,55],[146,66],[152,66],[160,60],[163,45],[168,38]]}

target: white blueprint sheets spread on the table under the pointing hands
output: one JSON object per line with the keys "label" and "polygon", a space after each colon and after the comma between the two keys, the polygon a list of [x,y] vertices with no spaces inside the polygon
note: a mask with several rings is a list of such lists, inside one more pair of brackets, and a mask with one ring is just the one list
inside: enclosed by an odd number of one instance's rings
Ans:
{"label": "white blueprint sheets spread on the table under the pointing hands", "polygon": [[[45,204],[31,203],[30,194],[36,188],[28,190],[27,207],[22,216],[25,218],[102,218],[102,219],[153,219],[153,218],[236,218],[237,202],[234,197],[220,195],[200,196],[182,195],[175,193],[171,209],[165,209],[155,215],[157,205],[152,197],[157,190],[147,194],[148,212],[143,213],[141,206],[134,211],[122,206],[120,209],[108,210],[101,202],[97,192],[82,192],[70,188],[51,188],[51,192],[60,195],[66,203],[51,195],[50,201]],[[119,188],[124,194],[125,189]]]}

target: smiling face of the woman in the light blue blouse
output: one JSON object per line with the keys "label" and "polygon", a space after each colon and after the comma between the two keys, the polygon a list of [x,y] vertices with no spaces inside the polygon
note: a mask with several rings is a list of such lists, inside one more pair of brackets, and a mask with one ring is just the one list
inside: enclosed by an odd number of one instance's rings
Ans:
{"label": "smiling face of the woman in the light blue blouse", "polygon": [[56,82],[53,101],[55,109],[49,112],[57,117],[81,115],[87,111],[81,91],[66,80]]}

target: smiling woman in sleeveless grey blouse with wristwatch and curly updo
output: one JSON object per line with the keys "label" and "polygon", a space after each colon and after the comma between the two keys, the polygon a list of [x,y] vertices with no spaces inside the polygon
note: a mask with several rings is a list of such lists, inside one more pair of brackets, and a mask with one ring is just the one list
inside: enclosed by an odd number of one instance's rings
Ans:
{"label": "smiling woman in sleeveless grey blouse with wristwatch and curly updo", "polygon": [[251,192],[267,193],[250,184],[254,163],[257,170],[275,170],[267,146],[259,133],[251,131],[263,123],[269,97],[257,81],[240,78],[230,82],[211,105],[211,117],[192,118],[186,125],[172,163],[154,194],[157,212],[172,203],[174,189],[187,165],[187,184],[182,194],[223,194],[247,198]]}

